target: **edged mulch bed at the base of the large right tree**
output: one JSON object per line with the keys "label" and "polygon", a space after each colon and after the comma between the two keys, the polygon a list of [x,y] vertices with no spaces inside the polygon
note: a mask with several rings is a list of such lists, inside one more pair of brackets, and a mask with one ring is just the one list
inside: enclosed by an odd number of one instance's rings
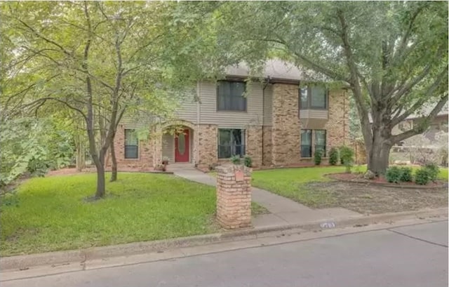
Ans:
{"label": "edged mulch bed at the base of the large right tree", "polygon": [[429,182],[427,185],[417,185],[415,182],[387,182],[385,178],[378,177],[373,180],[366,180],[363,178],[363,174],[357,173],[331,173],[326,175],[328,178],[333,180],[339,180],[342,182],[354,182],[354,183],[364,183],[369,185],[379,185],[383,187],[399,187],[406,189],[434,189],[447,187],[448,182],[443,182],[437,180],[436,182]]}

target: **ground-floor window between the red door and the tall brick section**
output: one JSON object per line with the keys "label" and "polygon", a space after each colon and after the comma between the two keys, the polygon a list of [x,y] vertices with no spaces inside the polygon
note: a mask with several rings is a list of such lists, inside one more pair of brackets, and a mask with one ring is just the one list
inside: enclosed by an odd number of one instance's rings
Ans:
{"label": "ground-floor window between the red door and the tall brick section", "polygon": [[218,129],[218,158],[229,159],[231,156],[245,154],[245,130]]}

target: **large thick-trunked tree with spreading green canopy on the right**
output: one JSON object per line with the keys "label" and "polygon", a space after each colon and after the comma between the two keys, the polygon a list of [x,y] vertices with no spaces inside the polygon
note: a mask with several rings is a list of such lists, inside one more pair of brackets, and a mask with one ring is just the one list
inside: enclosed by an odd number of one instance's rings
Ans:
{"label": "large thick-trunked tree with spreading green canopy on the right", "polygon": [[[222,41],[248,60],[277,51],[316,79],[350,88],[375,173],[384,173],[394,144],[425,131],[448,101],[447,2],[229,2],[213,17]],[[419,125],[392,133],[420,113]]]}

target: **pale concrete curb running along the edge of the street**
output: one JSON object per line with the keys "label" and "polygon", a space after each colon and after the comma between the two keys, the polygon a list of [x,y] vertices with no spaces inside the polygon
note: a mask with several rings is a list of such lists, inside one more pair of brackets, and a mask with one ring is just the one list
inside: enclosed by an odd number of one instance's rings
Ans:
{"label": "pale concrete curb running along the edge of the street", "polygon": [[[165,239],[158,241],[144,241],[126,243],[114,246],[100,246],[80,249],[78,251],[56,251],[50,253],[39,253],[32,255],[18,255],[0,258],[0,269],[28,269],[29,267],[41,265],[67,265],[71,262],[83,263],[87,260],[112,258],[118,256],[135,255],[142,253],[162,252],[171,248],[182,248],[188,246],[200,246],[208,243],[225,241],[236,241],[243,236],[263,236],[267,232],[280,232],[288,229],[304,229],[307,231],[318,231],[329,228],[361,227],[381,222],[394,222],[397,220],[440,218],[448,217],[448,208],[435,208],[420,211],[405,211],[400,213],[382,213],[378,215],[366,215],[363,217],[346,218],[343,220],[319,220],[306,224],[275,225],[268,227],[257,227],[241,229],[215,234],[180,237],[176,239]],[[241,239],[242,240],[242,239]]]}

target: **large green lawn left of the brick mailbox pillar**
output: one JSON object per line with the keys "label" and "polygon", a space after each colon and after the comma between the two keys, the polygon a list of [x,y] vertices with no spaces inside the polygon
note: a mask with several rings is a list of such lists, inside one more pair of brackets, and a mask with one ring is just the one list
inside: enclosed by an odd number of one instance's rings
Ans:
{"label": "large green lawn left of the brick mailbox pillar", "polygon": [[[107,175],[109,178],[109,175]],[[95,174],[32,178],[1,197],[0,255],[42,253],[217,232],[215,187],[151,173],[120,173],[107,196]],[[257,203],[253,214],[266,213]]]}

